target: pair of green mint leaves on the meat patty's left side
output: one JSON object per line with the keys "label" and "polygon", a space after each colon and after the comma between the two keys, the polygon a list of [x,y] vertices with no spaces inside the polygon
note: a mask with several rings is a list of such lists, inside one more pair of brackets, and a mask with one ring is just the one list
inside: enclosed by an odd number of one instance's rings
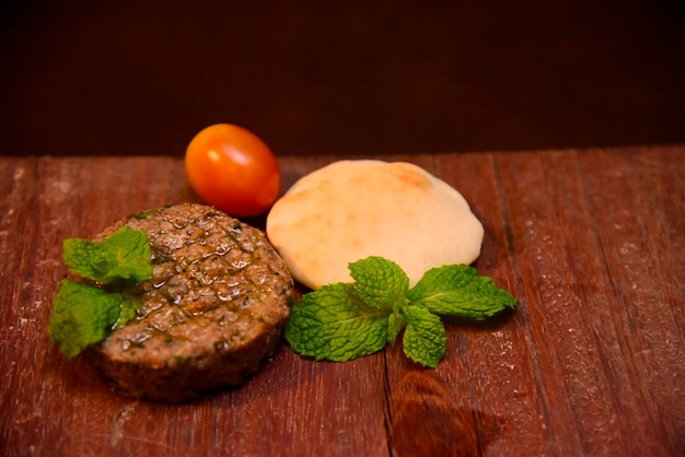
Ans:
{"label": "pair of green mint leaves on the meat patty's left side", "polygon": [[101,243],[65,241],[63,260],[70,271],[107,286],[60,281],[48,319],[48,336],[68,359],[133,318],[140,296],[125,289],[152,278],[151,258],[148,235],[128,225]]}

